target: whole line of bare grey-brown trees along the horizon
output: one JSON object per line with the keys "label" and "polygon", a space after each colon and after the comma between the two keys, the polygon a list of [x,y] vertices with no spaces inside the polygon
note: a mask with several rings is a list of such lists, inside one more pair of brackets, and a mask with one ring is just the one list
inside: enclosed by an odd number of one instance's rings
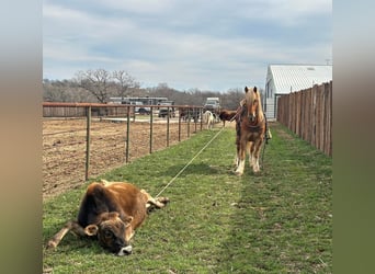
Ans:
{"label": "whole line of bare grey-brown trees along the horizon", "polygon": [[168,83],[140,88],[140,83],[126,71],[111,72],[105,69],[81,70],[69,80],[43,80],[43,100],[45,102],[106,103],[112,96],[162,96],[174,101],[177,105],[203,105],[206,98],[218,96],[221,107],[236,110],[239,101],[243,98],[243,87],[232,88],[226,92],[198,89],[179,91],[169,87]]}

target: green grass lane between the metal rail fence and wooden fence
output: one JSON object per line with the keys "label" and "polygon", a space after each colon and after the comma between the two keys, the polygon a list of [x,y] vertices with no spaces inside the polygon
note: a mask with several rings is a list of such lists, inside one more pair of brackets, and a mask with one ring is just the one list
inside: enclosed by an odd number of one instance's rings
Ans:
{"label": "green grass lane between the metal rail fence and wooden fence", "polygon": [[[217,129],[218,130],[218,129]],[[162,193],[118,258],[67,235],[44,250],[54,273],[332,273],[332,159],[272,124],[260,174],[234,174],[235,132],[226,128]],[[104,174],[158,194],[216,134],[204,130]],[[44,203],[44,243],[75,218],[87,184]]]}

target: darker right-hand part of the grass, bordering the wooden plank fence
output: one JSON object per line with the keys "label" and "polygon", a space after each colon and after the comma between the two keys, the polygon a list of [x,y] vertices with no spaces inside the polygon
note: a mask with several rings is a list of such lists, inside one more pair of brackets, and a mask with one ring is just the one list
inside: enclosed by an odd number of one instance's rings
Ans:
{"label": "darker right-hand part of the grass, bordering the wooden plank fence", "polygon": [[247,165],[240,179],[215,273],[332,271],[330,161],[306,144],[275,137],[263,170],[253,174]]}

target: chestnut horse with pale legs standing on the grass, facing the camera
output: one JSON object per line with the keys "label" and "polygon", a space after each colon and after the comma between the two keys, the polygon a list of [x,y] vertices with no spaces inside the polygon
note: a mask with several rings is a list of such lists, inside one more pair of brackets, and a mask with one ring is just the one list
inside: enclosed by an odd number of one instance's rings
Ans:
{"label": "chestnut horse with pale legs standing on the grass, facing the camera", "polygon": [[258,173],[259,156],[265,139],[266,121],[262,110],[260,92],[257,87],[245,87],[245,99],[241,101],[242,110],[236,123],[237,132],[237,169],[236,174],[242,175],[246,153],[249,153],[249,164]]}

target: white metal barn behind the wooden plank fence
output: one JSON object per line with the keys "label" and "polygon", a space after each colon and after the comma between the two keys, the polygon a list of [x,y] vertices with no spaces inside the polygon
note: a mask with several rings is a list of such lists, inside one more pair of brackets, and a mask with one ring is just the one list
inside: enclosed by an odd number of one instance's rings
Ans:
{"label": "white metal barn behind the wooden plank fence", "polygon": [[277,98],[332,80],[332,65],[269,65],[263,111],[269,119],[277,114]]}

